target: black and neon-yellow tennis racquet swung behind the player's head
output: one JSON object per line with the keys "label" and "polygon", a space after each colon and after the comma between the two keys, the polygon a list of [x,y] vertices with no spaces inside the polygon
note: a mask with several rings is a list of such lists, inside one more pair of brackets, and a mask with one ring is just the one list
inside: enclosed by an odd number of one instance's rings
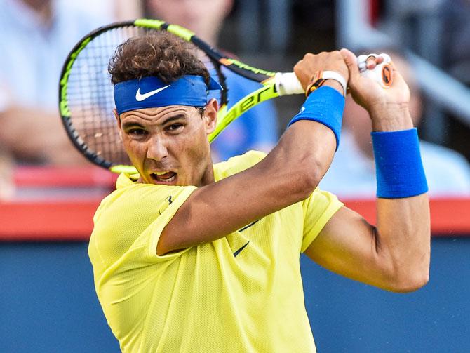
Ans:
{"label": "black and neon-yellow tennis racquet swung behind the player's head", "polygon": [[[138,19],[117,22],[90,32],[77,43],[67,56],[59,84],[59,109],[67,135],[75,147],[94,164],[110,171],[136,173],[123,148],[114,118],[114,95],[109,59],[119,44],[133,36],[166,31],[194,45],[197,58],[206,65],[210,76],[222,91],[210,91],[220,105],[212,142],[231,121],[255,105],[280,95],[304,93],[293,72],[281,73],[257,69],[219,53],[193,32],[161,20]],[[222,67],[247,79],[260,82],[262,87],[246,95],[227,109],[227,92]]]}

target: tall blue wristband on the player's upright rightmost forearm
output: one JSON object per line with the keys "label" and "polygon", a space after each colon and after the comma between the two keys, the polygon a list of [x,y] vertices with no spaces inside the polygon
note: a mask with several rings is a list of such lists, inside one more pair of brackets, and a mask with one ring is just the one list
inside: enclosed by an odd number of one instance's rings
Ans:
{"label": "tall blue wristband on the player's upright rightmost forearm", "polygon": [[397,199],[428,191],[416,128],[372,132],[377,197]]}

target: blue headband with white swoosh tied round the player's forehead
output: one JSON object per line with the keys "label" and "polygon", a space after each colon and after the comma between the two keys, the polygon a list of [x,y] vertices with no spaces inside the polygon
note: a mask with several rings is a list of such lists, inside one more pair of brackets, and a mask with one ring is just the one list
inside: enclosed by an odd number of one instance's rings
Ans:
{"label": "blue headband with white swoosh tied round the player's forehead", "polygon": [[222,89],[212,77],[209,86],[206,86],[202,76],[182,76],[169,84],[158,77],[149,76],[115,84],[114,103],[118,114],[168,105],[203,107],[207,103],[208,90]]}

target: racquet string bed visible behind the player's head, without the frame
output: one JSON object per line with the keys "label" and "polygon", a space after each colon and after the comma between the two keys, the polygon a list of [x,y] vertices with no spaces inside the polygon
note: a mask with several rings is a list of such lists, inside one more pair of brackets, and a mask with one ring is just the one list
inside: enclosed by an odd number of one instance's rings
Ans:
{"label": "racquet string bed visible behind the player's head, without the frame", "polygon": [[[67,125],[80,148],[95,159],[95,163],[107,168],[118,164],[130,165],[113,114],[113,86],[107,71],[109,59],[119,44],[149,32],[157,30],[133,25],[107,29],[93,37],[79,52],[70,70],[67,81],[70,117]],[[217,99],[219,105],[227,104],[227,87],[220,66],[196,46],[194,51],[208,68],[210,76],[224,87],[223,96],[220,91],[210,91],[209,99]]]}

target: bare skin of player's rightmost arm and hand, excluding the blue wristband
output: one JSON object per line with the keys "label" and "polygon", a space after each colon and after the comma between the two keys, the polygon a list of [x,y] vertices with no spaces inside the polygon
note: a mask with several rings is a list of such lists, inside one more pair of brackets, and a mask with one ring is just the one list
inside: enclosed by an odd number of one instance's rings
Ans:
{"label": "bare skin of player's rightmost arm and hand, excluding the blue wristband", "polygon": [[[351,93],[370,112],[373,129],[411,128],[409,91],[401,76],[394,72],[394,86],[389,91],[374,92],[354,71],[354,55],[347,58]],[[325,225],[306,254],[323,267],[351,279],[389,291],[414,291],[429,278],[429,232],[427,194],[379,198],[377,227],[344,207]]]}

